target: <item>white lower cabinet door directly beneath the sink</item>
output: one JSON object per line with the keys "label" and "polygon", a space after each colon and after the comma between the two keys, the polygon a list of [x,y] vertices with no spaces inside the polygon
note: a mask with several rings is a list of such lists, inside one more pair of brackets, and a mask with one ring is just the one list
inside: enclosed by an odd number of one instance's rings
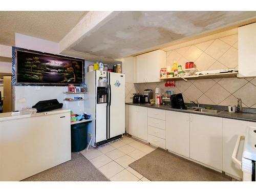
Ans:
{"label": "white lower cabinet door directly beneath the sink", "polygon": [[190,158],[222,170],[222,118],[190,114]]}

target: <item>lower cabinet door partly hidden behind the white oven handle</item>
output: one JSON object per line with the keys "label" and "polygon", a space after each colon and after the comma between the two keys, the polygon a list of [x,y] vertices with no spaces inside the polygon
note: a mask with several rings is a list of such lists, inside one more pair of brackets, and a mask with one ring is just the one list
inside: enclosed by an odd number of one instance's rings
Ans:
{"label": "lower cabinet door partly hidden behind the white oven handle", "polygon": [[[245,135],[247,126],[256,126],[256,123],[223,119],[223,171],[239,178],[243,177],[242,170],[233,163],[231,156],[238,136]],[[243,146],[244,141],[240,143],[237,155],[237,158],[240,160],[242,158]]]}

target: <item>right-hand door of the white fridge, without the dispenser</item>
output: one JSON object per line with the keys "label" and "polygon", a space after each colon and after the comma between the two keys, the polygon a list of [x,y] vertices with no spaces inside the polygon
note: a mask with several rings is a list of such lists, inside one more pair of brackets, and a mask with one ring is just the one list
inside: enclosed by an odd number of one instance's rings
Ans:
{"label": "right-hand door of the white fridge, without the dispenser", "polygon": [[125,75],[110,73],[110,138],[125,133]]}

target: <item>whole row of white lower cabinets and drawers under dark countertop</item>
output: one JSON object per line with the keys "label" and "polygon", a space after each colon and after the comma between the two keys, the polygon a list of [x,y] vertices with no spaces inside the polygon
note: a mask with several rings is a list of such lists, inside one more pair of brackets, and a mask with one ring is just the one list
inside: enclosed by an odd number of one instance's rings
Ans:
{"label": "whole row of white lower cabinets and drawers under dark countertop", "polygon": [[[126,132],[170,152],[242,178],[232,162],[237,138],[255,122],[126,105]],[[242,158],[244,141],[237,158]]]}

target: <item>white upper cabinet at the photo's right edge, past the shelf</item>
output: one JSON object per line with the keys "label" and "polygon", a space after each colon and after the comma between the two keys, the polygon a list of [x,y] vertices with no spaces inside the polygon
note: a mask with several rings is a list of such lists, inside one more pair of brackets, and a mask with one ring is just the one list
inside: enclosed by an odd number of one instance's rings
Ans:
{"label": "white upper cabinet at the photo's right edge, past the shelf", "polygon": [[238,28],[238,77],[256,77],[256,23]]}

